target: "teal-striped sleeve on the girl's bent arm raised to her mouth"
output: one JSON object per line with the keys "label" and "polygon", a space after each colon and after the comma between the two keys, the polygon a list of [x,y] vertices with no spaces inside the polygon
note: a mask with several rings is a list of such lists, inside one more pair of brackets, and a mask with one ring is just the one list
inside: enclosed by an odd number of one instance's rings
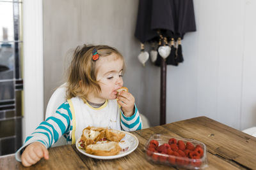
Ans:
{"label": "teal-striped sleeve on the girl's bent arm raised to her mouth", "polygon": [[135,111],[131,117],[125,117],[121,110],[121,126],[124,131],[137,131],[142,129],[142,121],[136,104],[134,104],[134,107]]}

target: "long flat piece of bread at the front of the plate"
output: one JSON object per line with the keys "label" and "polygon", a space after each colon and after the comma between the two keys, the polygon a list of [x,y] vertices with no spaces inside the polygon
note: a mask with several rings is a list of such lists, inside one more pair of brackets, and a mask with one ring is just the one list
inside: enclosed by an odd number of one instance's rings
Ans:
{"label": "long flat piece of bread at the front of the plate", "polygon": [[121,147],[115,141],[108,143],[97,143],[86,146],[86,153],[99,156],[111,156],[117,155],[121,150]]}

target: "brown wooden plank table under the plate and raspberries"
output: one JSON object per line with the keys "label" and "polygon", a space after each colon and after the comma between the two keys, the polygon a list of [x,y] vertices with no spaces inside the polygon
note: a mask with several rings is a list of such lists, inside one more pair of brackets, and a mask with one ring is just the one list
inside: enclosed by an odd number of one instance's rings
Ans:
{"label": "brown wooden plank table under the plate and raspberries", "polygon": [[256,138],[207,117],[132,132],[140,141],[131,154],[113,160],[97,160],[79,153],[74,145],[49,148],[49,160],[25,168],[15,155],[0,157],[0,169],[175,169],[148,162],[143,147],[152,134],[202,141],[207,146],[205,169],[256,169]]}

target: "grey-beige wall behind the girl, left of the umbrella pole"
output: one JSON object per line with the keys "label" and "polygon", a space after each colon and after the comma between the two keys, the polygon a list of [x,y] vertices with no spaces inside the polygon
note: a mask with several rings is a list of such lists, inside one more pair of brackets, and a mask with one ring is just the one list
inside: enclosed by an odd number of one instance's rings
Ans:
{"label": "grey-beige wall behind the girl, left of the umbrella pole", "polygon": [[159,124],[159,67],[138,61],[138,0],[44,0],[44,106],[65,79],[68,50],[83,43],[115,46],[125,57],[124,85],[151,125]]}

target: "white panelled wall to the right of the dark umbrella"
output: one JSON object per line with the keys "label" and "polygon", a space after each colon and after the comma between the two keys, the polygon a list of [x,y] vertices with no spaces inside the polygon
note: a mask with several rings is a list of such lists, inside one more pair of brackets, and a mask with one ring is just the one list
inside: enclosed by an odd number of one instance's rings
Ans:
{"label": "white panelled wall to the right of the dark umbrella", "polygon": [[197,31],[184,36],[185,61],[168,66],[167,122],[204,115],[236,129],[256,125],[256,3],[194,5]]}

